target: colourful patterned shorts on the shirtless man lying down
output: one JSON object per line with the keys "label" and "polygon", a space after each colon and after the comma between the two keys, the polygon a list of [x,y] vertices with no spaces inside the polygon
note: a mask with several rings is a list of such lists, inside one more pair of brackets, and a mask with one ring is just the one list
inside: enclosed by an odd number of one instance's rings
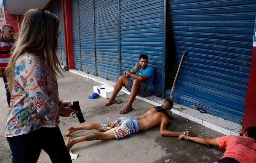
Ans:
{"label": "colourful patterned shorts on the shirtless man lying down", "polygon": [[113,123],[103,123],[102,127],[105,131],[111,130],[116,139],[123,138],[128,135],[139,132],[140,123],[135,117],[121,117]]}

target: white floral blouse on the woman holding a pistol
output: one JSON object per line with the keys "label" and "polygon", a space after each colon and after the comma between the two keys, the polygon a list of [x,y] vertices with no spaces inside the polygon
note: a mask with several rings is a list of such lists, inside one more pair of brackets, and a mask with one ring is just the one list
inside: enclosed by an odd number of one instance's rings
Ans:
{"label": "white floral blouse on the woman holding a pistol", "polygon": [[6,137],[30,133],[40,127],[58,126],[57,79],[39,57],[21,55],[15,62],[13,82]]}

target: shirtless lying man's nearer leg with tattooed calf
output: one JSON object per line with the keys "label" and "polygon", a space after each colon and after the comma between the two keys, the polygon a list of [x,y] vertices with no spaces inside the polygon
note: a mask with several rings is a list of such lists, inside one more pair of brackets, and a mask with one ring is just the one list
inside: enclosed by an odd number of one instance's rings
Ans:
{"label": "shirtless lying man's nearer leg with tattooed calf", "polygon": [[110,140],[114,139],[114,134],[111,130],[108,130],[107,132],[96,132],[96,133],[89,133],[88,135],[81,136],[79,138],[71,138],[68,137],[68,142],[66,144],[66,147],[68,150],[74,145],[77,144],[78,142],[82,141],[91,141],[91,140]]}

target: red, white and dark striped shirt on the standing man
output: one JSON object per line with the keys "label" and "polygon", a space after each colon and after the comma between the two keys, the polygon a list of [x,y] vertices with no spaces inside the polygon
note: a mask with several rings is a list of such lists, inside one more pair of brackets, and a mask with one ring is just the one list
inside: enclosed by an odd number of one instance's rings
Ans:
{"label": "red, white and dark striped shirt on the standing man", "polygon": [[11,42],[11,44],[6,42],[3,36],[0,38],[0,70],[4,70],[7,67],[11,57],[10,50],[13,44],[13,42]]}

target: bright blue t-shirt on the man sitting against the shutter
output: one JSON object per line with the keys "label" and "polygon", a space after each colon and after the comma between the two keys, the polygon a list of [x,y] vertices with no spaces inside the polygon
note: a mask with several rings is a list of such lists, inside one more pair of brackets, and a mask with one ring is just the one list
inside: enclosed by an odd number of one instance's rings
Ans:
{"label": "bright blue t-shirt on the man sitting against the shutter", "polygon": [[[131,71],[133,71],[134,68],[135,68],[135,66],[131,69]],[[143,83],[145,83],[146,86],[148,86],[151,91],[154,90],[153,82],[154,82],[154,79],[155,79],[155,72],[154,72],[153,67],[151,67],[150,65],[147,65],[146,68],[144,68],[143,70],[140,69],[139,71],[137,71],[134,74],[139,75],[139,76],[145,74],[148,77],[148,79],[144,80]],[[134,80],[132,77],[130,79]]]}

